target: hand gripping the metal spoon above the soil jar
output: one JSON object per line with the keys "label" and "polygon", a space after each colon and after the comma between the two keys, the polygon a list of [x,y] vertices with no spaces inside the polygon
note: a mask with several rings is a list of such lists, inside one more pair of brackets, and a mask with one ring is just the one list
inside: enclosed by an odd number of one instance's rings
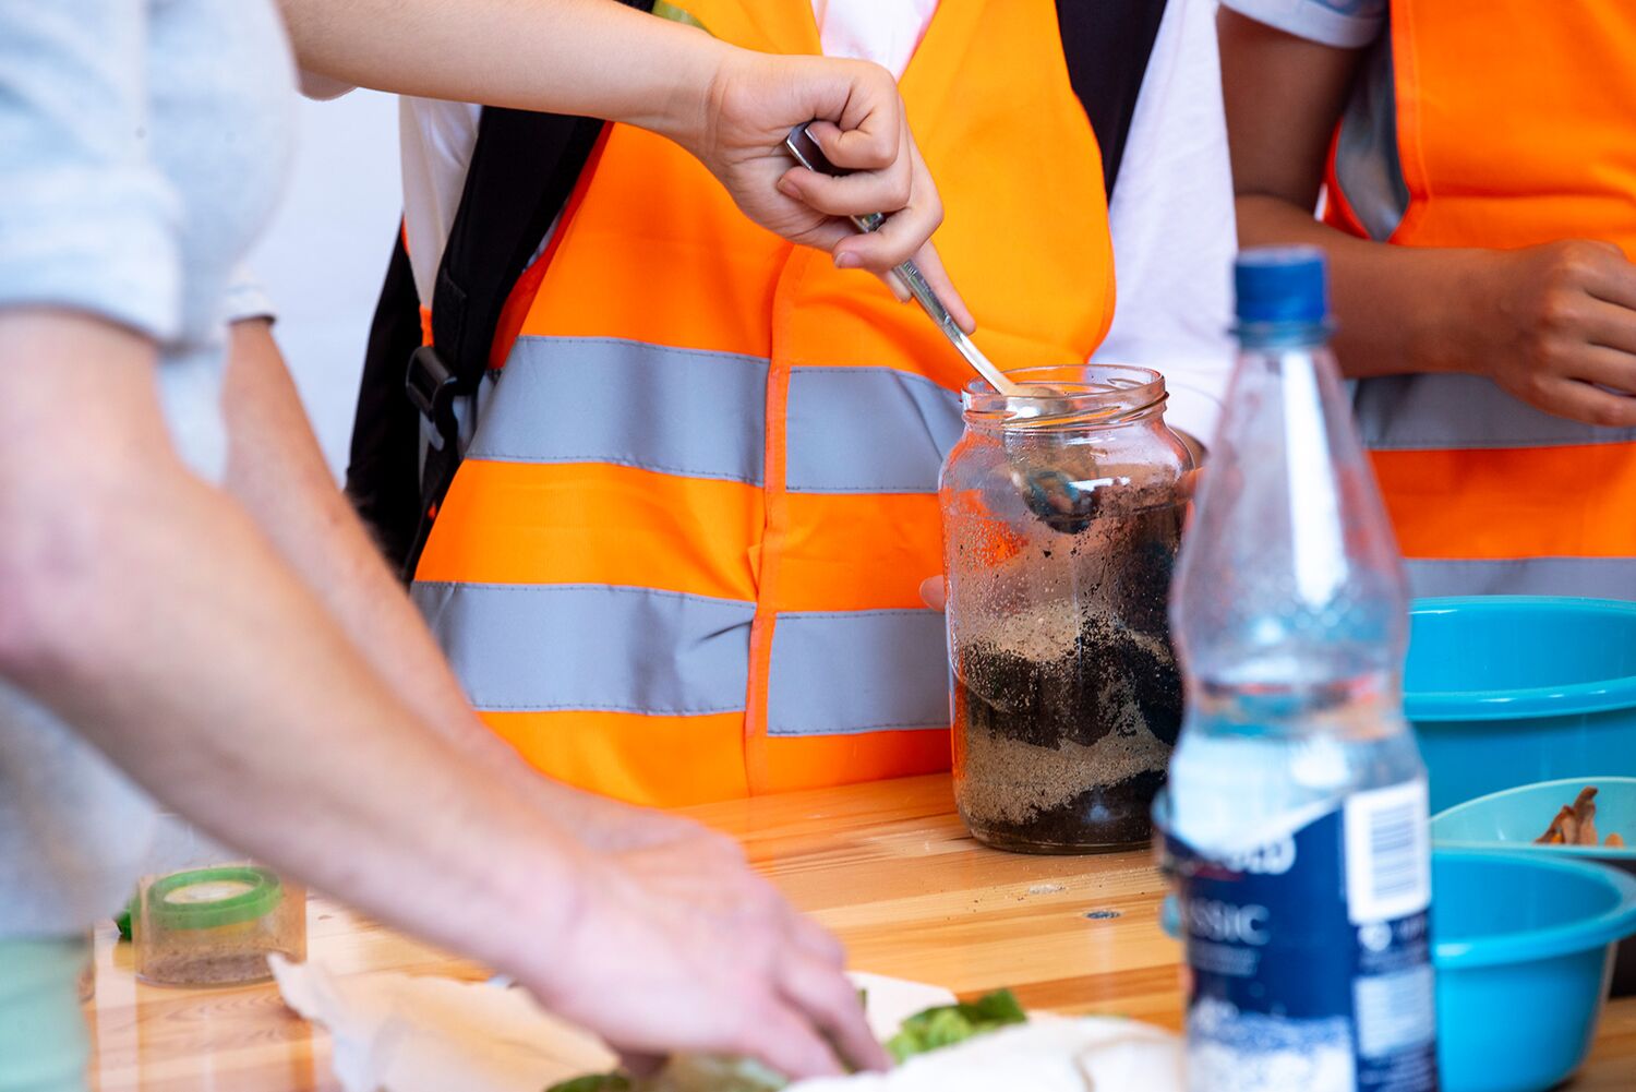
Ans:
{"label": "hand gripping the metal spoon above the soil jar", "polygon": [[[831,252],[843,268],[885,275],[915,259],[960,326],[973,329],[931,246],[942,201],[910,134],[892,74],[864,61],[746,49],[718,56],[703,116],[672,131],[672,139],[721,180],[751,219],[792,242]],[[813,120],[811,136],[829,162],[854,174],[831,178],[790,160],[785,136]],[[872,234],[861,234],[846,219],[869,213],[887,216]]]}

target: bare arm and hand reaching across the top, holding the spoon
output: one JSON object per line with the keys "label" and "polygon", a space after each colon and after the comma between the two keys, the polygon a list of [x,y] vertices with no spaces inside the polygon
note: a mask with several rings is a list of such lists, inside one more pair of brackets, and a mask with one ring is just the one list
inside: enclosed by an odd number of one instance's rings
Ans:
{"label": "bare arm and hand reaching across the top, holding the spoon", "polygon": [[[972,327],[931,234],[942,203],[897,82],[862,61],[772,56],[614,0],[280,0],[301,67],[425,98],[586,115],[659,133],[703,162],[744,213],[838,265],[885,273],[916,259]],[[782,151],[807,121],[828,178]],[[851,214],[887,213],[872,236]]]}

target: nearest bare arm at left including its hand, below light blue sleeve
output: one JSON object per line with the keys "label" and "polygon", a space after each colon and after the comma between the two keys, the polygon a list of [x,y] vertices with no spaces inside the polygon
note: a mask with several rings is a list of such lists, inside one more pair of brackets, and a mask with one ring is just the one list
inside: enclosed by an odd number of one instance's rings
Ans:
{"label": "nearest bare arm at left including its hand, below light blue sleeve", "polygon": [[429,729],[182,465],[154,367],[126,327],[0,308],[0,678],[226,842],[630,1054],[882,1059],[839,946],[741,860],[592,853]]}

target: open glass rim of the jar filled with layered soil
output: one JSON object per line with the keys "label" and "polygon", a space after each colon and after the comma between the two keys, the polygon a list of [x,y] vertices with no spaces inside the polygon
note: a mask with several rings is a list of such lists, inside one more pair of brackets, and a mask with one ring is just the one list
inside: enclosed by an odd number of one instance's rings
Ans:
{"label": "open glass rim of the jar filled with layered soil", "polygon": [[1050,396],[1008,398],[973,378],[960,391],[965,419],[1000,427],[1112,427],[1162,411],[1170,398],[1165,377],[1134,363],[1073,363],[1006,372],[1024,386],[1050,386]]}

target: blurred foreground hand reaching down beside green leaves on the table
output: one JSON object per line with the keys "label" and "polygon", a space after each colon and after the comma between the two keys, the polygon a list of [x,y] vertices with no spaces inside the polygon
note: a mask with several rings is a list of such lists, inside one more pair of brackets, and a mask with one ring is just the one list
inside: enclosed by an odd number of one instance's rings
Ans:
{"label": "blurred foreground hand reaching down beside green leaves on the table", "polygon": [[522,981],[635,1071],[674,1051],[744,1054],[793,1079],[885,1067],[841,945],[741,855],[661,843],[587,855],[579,876],[566,928],[542,936]]}

